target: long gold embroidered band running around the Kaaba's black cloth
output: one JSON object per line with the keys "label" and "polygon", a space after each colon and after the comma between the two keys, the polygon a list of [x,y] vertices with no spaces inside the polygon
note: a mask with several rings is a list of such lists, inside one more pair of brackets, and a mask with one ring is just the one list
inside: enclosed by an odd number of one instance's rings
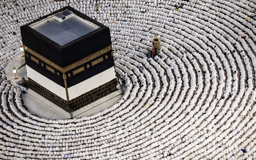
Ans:
{"label": "long gold embroidered band running around the Kaaba's black cloth", "polygon": [[78,67],[80,65],[83,65],[84,63],[87,63],[90,60],[93,60],[93,59],[95,59],[95,58],[97,58],[97,57],[107,53],[108,51],[112,50],[112,45],[109,45],[106,48],[103,48],[102,50],[99,50],[99,51],[97,51],[97,52],[95,52],[95,53],[93,53],[93,54],[83,58],[82,60],[79,60],[79,61],[77,61],[77,62],[75,62],[75,63],[73,63],[71,65],[68,65],[67,67],[62,68],[59,65],[56,65],[55,63],[50,61],[49,59],[45,58],[44,56],[40,55],[39,53],[36,53],[34,50],[30,49],[29,47],[25,46],[24,44],[23,44],[23,47],[24,47],[24,49],[27,52],[29,52],[30,54],[34,55],[36,58],[42,60],[43,62],[45,62],[48,65],[52,66],[53,68],[61,71],[62,73],[66,73],[66,72],[68,72],[68,71],[70,71],[70,70],[72,70],[72,69],[74,69],[74,68],[76,68],[76,67]]}

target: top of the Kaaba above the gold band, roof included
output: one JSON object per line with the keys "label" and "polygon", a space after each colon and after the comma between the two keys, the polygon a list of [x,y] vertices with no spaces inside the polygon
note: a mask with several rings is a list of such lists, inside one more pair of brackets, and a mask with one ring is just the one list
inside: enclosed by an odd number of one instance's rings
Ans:
{"label": "top of the Kaaba above the gold band, roof included", "polygon": [[103,48],[112,48],[109,28],[70,6],[20,29],[24,46],[60,67],[67,67]]}

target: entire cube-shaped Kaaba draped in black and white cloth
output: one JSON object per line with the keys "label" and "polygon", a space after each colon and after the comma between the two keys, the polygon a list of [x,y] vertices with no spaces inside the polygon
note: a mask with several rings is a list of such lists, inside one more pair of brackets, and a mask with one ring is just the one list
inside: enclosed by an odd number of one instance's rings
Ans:
{"label": "entire cube-shaped Kaaba draped in black and white cloth", "polygon": [[67,6],[20,29],[34,92],[70,112],[117,90],[108,27]]}

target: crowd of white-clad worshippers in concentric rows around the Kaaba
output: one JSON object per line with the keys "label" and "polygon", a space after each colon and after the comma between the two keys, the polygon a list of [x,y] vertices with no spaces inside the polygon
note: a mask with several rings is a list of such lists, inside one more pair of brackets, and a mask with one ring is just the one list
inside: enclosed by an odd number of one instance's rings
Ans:
{"label": "crowd of white-clad worshippers in concentric rows around the Kaaba", "polygon": [[[19,27],[67,5],[110,28],[123,95],[90,117],[48,120],[29,112],[5,67],[21,54]],[[0,8],[0,159],[256,159],[254,0],[2,0]],[[154,35],[162,50],[150,57]]]}

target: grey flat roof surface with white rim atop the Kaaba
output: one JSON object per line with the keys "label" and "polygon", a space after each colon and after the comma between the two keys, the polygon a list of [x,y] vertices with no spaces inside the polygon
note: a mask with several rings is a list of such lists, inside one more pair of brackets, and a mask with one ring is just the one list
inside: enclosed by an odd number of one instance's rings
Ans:
{"label": "grey flat roof surface with white rim atop the Kaaba", "polygon": [[61,46],[99,28],[67,9],[33,23],[30,27]]}

